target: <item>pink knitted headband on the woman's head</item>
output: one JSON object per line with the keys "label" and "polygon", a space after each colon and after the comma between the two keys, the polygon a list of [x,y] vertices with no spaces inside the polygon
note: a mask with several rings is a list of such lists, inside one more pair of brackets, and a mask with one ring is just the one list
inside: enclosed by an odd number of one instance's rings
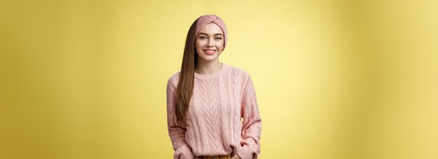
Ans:
{"label": "pink knitted headband on the woman's head", "polygon": [[217,24],[220,29],[222,29],[222,32],[224,33],[224,50],[225,46],[227,45],[227,27],[225,27],[225,22],[218,17],[218,15],[202,15],[201,17],[198,17],[198,22],[196,25],[195,30],[195,37],[198,35],[199,31],[204,27],[206,24],[209,24],[211,22]]}

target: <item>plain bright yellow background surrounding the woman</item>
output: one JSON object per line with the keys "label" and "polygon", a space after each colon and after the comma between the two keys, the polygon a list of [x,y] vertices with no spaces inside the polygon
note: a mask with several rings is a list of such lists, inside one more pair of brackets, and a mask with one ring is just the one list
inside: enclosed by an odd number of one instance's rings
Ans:
{"label": "plain bright yellow background surrounding the woman", "polygon": [[437,1],[0,1],[0,158],[172,158],[167,79],[217,14],[260,158],[438,158]]}

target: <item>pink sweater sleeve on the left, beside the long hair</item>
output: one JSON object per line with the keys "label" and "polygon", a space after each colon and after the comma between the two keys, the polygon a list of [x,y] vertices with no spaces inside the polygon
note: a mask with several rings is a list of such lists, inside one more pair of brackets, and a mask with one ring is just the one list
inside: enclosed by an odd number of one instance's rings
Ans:
{"label": "pink sweater sleeve on the left, beside the long hair", "polygon": [[185,126],[180,126],[175,115],[176,84],[174,79],[167,81],[167,128],[174,148],[174,159],[192,159],[195,154],[185,142]]}

